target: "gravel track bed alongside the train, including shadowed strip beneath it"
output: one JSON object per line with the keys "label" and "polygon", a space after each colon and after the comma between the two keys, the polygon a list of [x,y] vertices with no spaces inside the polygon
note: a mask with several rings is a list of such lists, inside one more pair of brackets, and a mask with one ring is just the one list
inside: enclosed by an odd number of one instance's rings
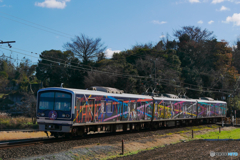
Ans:
{"label": "gravel track bed alongside the train, including shadowed strip beneath it", "polygon": [[[196,127],[196,126],[194,126]],[[215,127],[214,124],[200,125],[198,127]],[[92,144],[115,144],[124,139],[125,142],[134,140],[137,138],[144,138],[154,135],[164,135],[168,133],[175,133],[181,131],[191,131],[191,127],[178,127],[178,128],[160,128],[158,130],[141,130],[137,131],[127,131],[127,132],[116,132],[116,133],[101,133],[101,134],[89,134],[86,137],[80,138],[75,137],[72,139],[59,138],[59,139],[47,139],[38,142],[26,142],[22,145],[12,145],[14,147],[8,146],[8,148],[0,149],[0,158],[2,159],[15,159],[30,157],[36,155],[45,155],[55,152],[60,152],[68,149],[72,149],[78,146],[92,145]]]}

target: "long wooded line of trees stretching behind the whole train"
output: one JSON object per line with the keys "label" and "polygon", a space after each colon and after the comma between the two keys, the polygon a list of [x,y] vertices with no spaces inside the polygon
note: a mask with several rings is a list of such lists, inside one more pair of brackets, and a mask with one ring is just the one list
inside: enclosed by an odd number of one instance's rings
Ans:
{"label": "long wooded line of trees stretching behind the whole train", "polygon": [[[161,39],[154,45],[136,44],[107,59],[100,38],[81,34],[64,45],[67,51],[43,51],[37,65],[24,59],[15,66],[0,58],[0,93],[34,92],[32,84],[68,88],[108,86],[127,93],[184,94],[191,98],[228,98],[237,94],[240,73],[240,40],[233,49],[218,41],[212,31],[184,26],[174,40]],[[148,93],[149,94],[149,93]],[[228,98],[229,99],[229,98]],[[235,102],[240,101],[235,97]],[[238,105],[238,103],[237,103]],[[234,108],[229,104],[229,108]],[[234,109],[236,109],[235,107]]]}

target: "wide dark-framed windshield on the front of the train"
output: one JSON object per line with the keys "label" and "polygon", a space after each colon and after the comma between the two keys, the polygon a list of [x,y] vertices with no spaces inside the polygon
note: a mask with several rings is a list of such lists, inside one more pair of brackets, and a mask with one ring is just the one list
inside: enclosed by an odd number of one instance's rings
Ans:
{"label": "wide dark-framed windshield on the front of the train", "polygon": [[42,110],[71,110],[72,95],[63,92],[42,92],[39,96],[39,109]]}

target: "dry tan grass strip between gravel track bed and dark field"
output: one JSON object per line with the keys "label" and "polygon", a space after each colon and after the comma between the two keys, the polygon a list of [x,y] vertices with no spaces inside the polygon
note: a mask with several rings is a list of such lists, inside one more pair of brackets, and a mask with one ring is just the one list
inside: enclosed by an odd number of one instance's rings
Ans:
{"label": "dry tan grass strip between gravel track bed and dark field", "polygon": [[[170,132],[166,133],[163,135],[154,135],[152,137],[146,137],[145,140],[147,141],[146,143],[142,144],[142,142],[138,142],[138,140],[135,141],[128,141],[125,144],[125,153],[122,155],[119,153],[117,150],[116,152],[106,154],[98,157],[99,159],[106,160],[106,159],[113,159],[113,158],[118,158],[118,157],[125,157],[129,155],[134,155],[138,154],[139,152],[146,152],[149,150],[154,150],[156,148],[161,148],[165,147],[168,145],[173,145],[179,142],[187,142],[187,141],[192,141],[192,140],[198,140],[197,135],[204,135],[206,133],[212,132],[212,131],[217,131],[219,126],[217,125],[201,125],[201,126],[192,126],[192,127],[186,127],[181,131],[177,132]],[[192,130],[194,131],[194,138],[192,139]],[[222,130],[233,130],[233,128],[224,128]],[[223,131],[222,131],[223,133]],[[153,140],[154,139],[154,140]],[[148,141],[149,140],[149,141]],[[155,143],[156,142],[156,143]],[[98,145],[98,144],[97,144]],[[120,144],[115,144],[115,146],[121,147]],[[85,155],[74,155],[75,160],[80,160],[80,159],[94,159],[96,157],[89,157]]]}

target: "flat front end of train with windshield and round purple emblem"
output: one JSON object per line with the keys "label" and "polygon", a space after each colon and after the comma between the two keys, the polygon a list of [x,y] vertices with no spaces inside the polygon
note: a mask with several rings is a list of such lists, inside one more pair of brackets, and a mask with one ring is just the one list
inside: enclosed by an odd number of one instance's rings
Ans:
{"label": "flat front end of train with windshield and round purple emblem", "polygon": [[74,111],[74,92],[61,88],[38,91],[37,122],[40,131],[50,131],[57,137],[70,133]]}

